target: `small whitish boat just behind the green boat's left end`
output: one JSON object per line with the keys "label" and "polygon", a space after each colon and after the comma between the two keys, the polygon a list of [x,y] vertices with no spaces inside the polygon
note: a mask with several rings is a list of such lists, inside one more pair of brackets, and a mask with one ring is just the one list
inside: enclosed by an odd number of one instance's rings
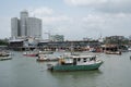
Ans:
{"label": "small whitish boat just behind the green boat's left end", "polygon": [[36,59],[38,62],[45,62],[45,61],[58,61],[58,58],[49,58],[46,54],[39,54]]}

